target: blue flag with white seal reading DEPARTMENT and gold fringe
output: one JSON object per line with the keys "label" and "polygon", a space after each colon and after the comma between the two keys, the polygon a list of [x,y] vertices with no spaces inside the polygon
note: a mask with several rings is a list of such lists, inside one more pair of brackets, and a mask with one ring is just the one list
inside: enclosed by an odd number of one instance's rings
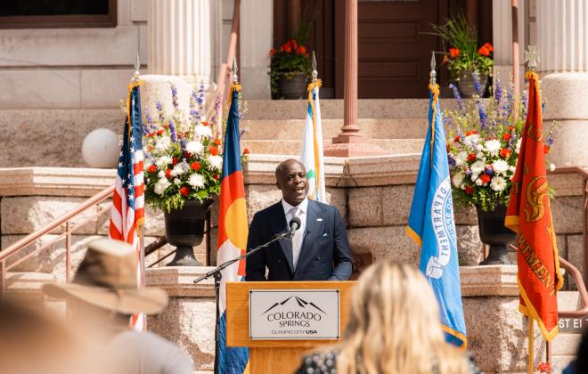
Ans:
{"label": "blue flag with white seal reading DEPARTMENT and gold fringe", "polygon": [[439,87],[430,86],[429,130],[422,149],[406,233],[421,246],[421,272],[437,296],[447,342],[466,347],[460,266]]}

